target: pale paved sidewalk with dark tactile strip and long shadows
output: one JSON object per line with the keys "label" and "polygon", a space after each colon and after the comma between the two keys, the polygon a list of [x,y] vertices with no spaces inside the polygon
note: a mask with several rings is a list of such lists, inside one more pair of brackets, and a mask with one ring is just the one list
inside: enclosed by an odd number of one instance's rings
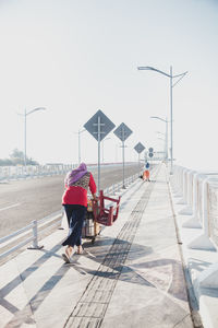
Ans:
{"label": "pale paved sidewalk with dark tactile strip and long shadows", "polygon": [[0,267],[0,327],[193,327],[162,165],[132,184],[118,221],[66,265],[57,231]]}

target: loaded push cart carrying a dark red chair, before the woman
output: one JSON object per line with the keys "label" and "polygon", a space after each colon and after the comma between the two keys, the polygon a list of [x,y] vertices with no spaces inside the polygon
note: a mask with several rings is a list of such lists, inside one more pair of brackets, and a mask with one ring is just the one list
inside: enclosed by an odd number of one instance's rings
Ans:
{"label": "loaded push cart carrying a dark red chair, before the woman", "polygon": [[[120,196],[118,199],[107,197],[104,195],[104,191],[100,190],[97,201],[88,201],[83,237],[92,238],[92,243],[95,243],[96,236],[100,233],[101,225],[110,226],[113,224],[118,219],[120,199]],[[109,208],[105,204],[106,200],[111,202]]]}

